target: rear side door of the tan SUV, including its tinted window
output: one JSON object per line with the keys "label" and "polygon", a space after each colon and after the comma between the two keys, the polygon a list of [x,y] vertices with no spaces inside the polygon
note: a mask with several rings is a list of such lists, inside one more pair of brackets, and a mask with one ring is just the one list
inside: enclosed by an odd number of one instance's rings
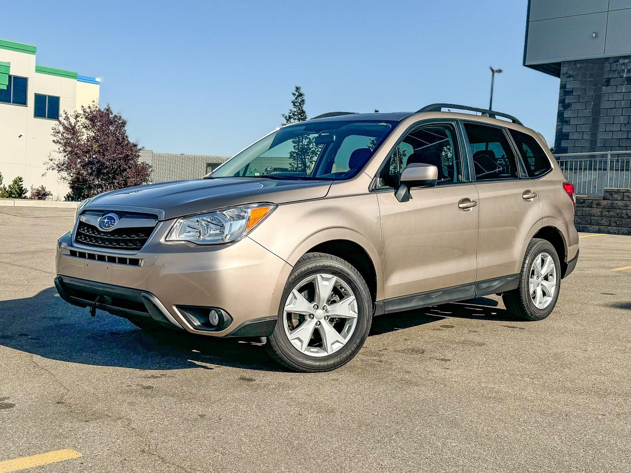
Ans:
{"label": "rear side door of the tan SUV, including its tinted window", "polygon": [[480,206],[476,279],[517,274],[531,230],[543,222],[538,189],[504,127],[464,121],[464,131]]}

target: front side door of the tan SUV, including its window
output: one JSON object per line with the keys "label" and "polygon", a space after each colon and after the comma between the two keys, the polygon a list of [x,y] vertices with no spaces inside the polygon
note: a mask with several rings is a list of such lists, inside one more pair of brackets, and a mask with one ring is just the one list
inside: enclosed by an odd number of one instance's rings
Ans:
{"label": "front side door of the tan SUV, including its window", "polygon": [[[456,122],[423,122],[404,135],[376,180],[386,312],[475,296],[478,192],[464,173]],[[410,163],[439,170],[437,185],[394,190]],[[442,289],[448,288],[447,291]]]}

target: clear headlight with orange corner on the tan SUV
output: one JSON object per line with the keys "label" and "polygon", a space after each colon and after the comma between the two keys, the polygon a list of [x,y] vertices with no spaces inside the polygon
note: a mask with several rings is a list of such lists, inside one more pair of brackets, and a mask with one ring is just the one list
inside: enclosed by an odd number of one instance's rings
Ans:
{"label": "clear headlight with orange corner on the tan SUV", "polygon": [[247,235],[275,208],[276,205],[269,203],[250,204],[182,217],[175,221],[166,241],[198,245],[234,242]]}

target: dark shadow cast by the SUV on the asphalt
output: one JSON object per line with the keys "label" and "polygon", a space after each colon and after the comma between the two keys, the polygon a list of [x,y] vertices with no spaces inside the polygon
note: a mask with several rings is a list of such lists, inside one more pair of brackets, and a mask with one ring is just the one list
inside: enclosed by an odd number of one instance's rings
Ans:
{"label": "dark shadow cast by the SUV on the asphalt", "polygon": [[[375,317],[370,336],[447,317],[515,320],[492,304],[497,301],[480,298]],[[92,318],[88,309],[69,305],[52,287],[30,298],[0,301],[0,346],[69,363],[139,370],[232,366],[283,371],[262,353],[260,344],[171,331],[144,332],[100,310]]]}

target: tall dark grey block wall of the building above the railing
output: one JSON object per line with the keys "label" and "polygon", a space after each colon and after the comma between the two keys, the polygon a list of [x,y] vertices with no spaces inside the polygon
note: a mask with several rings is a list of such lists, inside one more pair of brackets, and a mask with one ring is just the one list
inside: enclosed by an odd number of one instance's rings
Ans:
{"label": "tall dark grey block wall of the building above the railing", "polygon": [[631,56],[561,66],[555,154],[631,149]]}

